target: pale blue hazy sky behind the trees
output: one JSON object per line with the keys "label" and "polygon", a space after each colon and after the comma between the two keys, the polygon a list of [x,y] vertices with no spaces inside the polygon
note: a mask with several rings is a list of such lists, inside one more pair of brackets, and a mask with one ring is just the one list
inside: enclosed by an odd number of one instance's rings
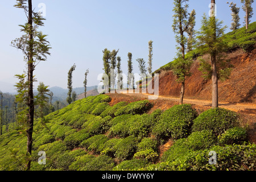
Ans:
{"label": "pale blue hazy sky behind the trees", "polygon": [[[3,0],[1,0],[3,2]],[[232,16],[228,0],[217,0],[217,18],[230,31]],[[0,4],[0,90],[14,92],[16,74],[26,69],[23,54],[11,47],[11,41],[22,35],[19,24],[26,22],[23,10],[14,7],[15,0]],[[233,0],[242,7],[240,0]],[[175,35],[172,31],[173,0],[32,0],[35,11],[44,13],[44,27],[48,35],[51,56],[40,62],[34,74],[38,82],[49,87],[67,88],[68,71],[73,72],[73,88],[82,87],[84,73],[89,69],[88,86],[98,85],[103,73],[102,51],[119,49],[123,73],[127,73],[127,53],[133,54],[134,73],[139,73],[136,59],[148,60],[148,41],[153,41],[153,71],[172,61],[176,55]],[[210,0],[189,1],[189,12],[196,10],[196,30],[201,17],[208,15]],[[43,5],[43,6],[42,6]],[[256,3],[253,3],[256,9]],[[245,13],[240,9],[240,23]],[[256,21],[256,14],[251,22]]]}

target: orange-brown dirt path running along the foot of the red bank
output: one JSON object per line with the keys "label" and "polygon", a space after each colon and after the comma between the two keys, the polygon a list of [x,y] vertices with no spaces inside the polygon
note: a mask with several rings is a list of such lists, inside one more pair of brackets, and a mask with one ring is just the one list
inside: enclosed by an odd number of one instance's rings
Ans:
{"label": "orange-brown dirt path running along the foot of the red bank", "polygon": [[[151,97],[153,99],[157,100],[169,100],[174,102],[179,102],[179,98],[175,97],[166,97],[166,96],[152,96],[150,94],[142,94],[142,93],[122,93],[129,96],[136,96],[136,97]],[[205,107],[211,107],[212,101],[206,101],[206,100],[193,100],[184,98],[184,104],[193,104],[193,105],[199,105],[199,106],[205,106]],[[225,109],[233,110],[239,113],[245,113],[245,114],[253,114],[256,115],[256,104],[245,104],[245,103],[237,103],[232,104],[228,102],[219,102],[219,107],[223,107]]]}

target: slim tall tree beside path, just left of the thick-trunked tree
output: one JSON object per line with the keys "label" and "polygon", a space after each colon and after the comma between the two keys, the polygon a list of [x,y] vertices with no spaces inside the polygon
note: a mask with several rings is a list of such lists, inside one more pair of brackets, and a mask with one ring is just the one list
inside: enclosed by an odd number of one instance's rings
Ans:
{"label": "slim tall tree beside path, just left of the thick-trunked tree", "polygon": [[[172,24],[172,29],[175,32],[176,42],[179,44],[177,46],[177,59],[175,64],[173,64],[173,70],[177,76],[177,81],[181,83],[180,91],[180,104],[183,104],[183,98],[185,93],[185,77],[189,76],[189,68],[191,66],[191,61],[185,59],[185,47],[188,42],[185,32],[189,31],[189,26],[193,27],[195,23],[195,10],[191,14],[188,13],[188,0],[174,0],[174,21]],[[192,29],[191,29],[192,31]],[[192,32],[191,32],[192,35]]]}

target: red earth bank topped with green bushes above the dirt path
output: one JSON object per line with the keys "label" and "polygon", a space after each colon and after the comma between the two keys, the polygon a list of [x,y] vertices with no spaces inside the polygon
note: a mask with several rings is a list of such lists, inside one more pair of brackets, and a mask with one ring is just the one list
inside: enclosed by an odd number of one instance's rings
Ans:
{"label": "red earth bank topped with green bushes above the dirt path", "polygon": [[[219,100],[222,102],[249,102],[256,103],[256,22],[239,30],[224,35],[226,59],[233,65],[233,71],[229,80],[219,81]],[[207,59],[208,55],[200,55],[197,49],[187,53],[186,56],[194,57],[191,67],[192,76],[185,81],[185,98],[203,100],[212,99],[212,85],[210,80],[204,80],[199,71],[199,56]],[[172,62],[159,68],[159,94],[162,96],[179,97],[180,84],[171,71]],[[145,83],[144,83],[145,84]]]}

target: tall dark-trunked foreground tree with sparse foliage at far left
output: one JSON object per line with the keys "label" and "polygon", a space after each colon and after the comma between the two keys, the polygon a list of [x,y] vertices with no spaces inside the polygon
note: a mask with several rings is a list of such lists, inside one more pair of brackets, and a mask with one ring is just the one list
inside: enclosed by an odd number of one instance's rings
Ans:
{"label": "tall dark-trunked foreground tree with sparse foliage at far left", "polygon": [[[16,5],[19,9],[23,9],[27,17],[27,22],[20,25],[21,31],[24,32],[21,38],[13,40],[11,46],[22,50],[24,53],[24,60],[27,64],[27,82],[28,82],[28,114],[27,123],[27,153],[31,155],[32,152],[32,133],[34,126],[34,94],[33,94],[33,81],[34,70],[40,61],[46,61],[47,55],[50,55],[49,42],[42,32],[38,31],[40,26],[44,26],[45,20],[39,13],[32,9],[32,0],[16,0]],[[31,159],[28,160],[27,170],[30,170]]]}

